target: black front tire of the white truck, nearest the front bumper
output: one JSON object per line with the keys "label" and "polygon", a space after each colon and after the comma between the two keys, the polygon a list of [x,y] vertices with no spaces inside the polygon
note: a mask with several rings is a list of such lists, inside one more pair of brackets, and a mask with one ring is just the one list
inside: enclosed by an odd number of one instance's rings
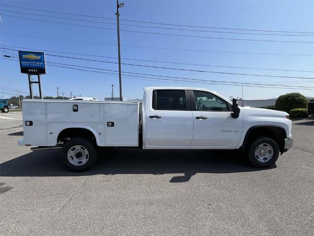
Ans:
{"label": "black front tire of the white truck, nearest the front bumper", "polygon": [[[264,157],[264,160],[263,160],[262,155],[260,155],[260,157],[258,155],[256,155],[256,151],[257,151],[257,153],[259,153],[258,150],[261,150],[261,148],[258,149],[258,147],[260,145],[262,146],[262,148],[263,148],[263,146],[265,146],[262,144],[269,145],[272,148],[272,150],[270,150],[270,153],[272,153],[271,158],[268,159],[267,157]],[[269,148],[267,146],[265,146],[265,147]],[[276,163],[278,156],[279,156],[279,146],[278,146],[277,142],[275,140],[273,140],[272,138],[269,138],[266,136],[265,137],[264,136],[263,137],[257,137],[248,146],[245,154],[246,154],[247,159],[251,162],[251,164],[253,166],[256,166],[259,168],[266,168],[266,167],[270,167]]]}

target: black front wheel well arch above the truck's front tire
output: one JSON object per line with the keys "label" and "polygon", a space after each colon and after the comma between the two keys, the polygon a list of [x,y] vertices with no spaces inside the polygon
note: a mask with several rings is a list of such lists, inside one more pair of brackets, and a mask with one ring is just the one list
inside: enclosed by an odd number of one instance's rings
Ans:
{"label": "black front wheel well arch above the truck's front tire", "polygon": [[243,144],[240,148],[241,152],[244,152],[245,147],[255,140],[259,136],[267,136],[274,139],[279,150],[282,153],[285,148],[286,131],[279,126],[256,126],[250,128],[244,138]]}

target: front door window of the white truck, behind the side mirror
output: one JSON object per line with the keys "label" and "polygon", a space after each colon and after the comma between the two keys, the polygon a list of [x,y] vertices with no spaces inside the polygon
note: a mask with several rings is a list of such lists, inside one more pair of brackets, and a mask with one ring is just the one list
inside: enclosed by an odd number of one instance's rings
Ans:
{"label": "front door window of the white truck, behind the side mirror", "polygon": [[227,102],[205,91],[194,91],[197,111],[228,111]]}

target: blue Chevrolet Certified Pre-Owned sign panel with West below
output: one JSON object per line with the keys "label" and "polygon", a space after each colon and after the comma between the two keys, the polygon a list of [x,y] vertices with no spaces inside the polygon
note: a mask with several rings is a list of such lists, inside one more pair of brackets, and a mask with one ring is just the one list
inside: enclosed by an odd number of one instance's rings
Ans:
{"label": "blue Chevrolet Certified Pre-Owned sign panel with West below", "polygon": [[21,73],[46,74],[44,53],[19,51]]}

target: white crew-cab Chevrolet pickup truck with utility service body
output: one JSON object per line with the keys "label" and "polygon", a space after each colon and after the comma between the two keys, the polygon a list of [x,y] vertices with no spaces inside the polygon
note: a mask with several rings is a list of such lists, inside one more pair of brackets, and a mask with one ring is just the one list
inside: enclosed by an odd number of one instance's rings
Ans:
{"label": "white crew-cab Chevrolet pickup truck with utility service body", "polygon": [[291,148],[288,113],[238,107],[208,89],[144,88],[139,102],[23,100],[24,139],[31,150],[59,149],[77,171],[98,147],[239,149],[256,167],[273,165]]}

